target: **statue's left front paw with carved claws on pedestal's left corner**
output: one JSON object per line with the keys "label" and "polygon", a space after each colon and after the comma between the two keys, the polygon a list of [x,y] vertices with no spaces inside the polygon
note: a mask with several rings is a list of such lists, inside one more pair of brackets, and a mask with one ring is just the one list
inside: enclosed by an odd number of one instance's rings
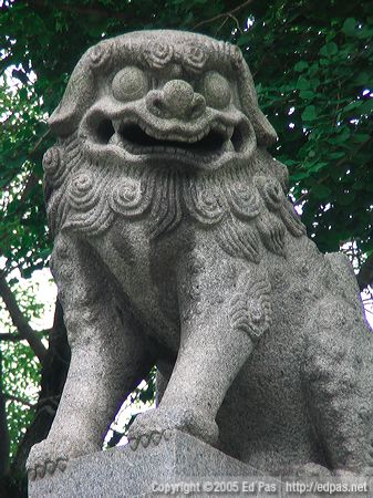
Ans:
{"label": "statue's left front paw with carved claws on pedestal's left corner", "polygon": [[56,470],[64,471],[69,459],[93,453],[96,449],[84,443],[77,445],[62,438],[58,442],[42,440],[31,448],[25,464],[29,479],[42,479],[45,475],[53,475]]}

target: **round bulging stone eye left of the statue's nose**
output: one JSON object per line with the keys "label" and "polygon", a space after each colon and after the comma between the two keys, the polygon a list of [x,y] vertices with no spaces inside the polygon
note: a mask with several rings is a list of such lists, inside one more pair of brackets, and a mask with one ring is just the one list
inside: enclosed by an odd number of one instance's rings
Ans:
{"label": "round bulging stone eye left of the statue's nose", "polygon": [[112,89],[117,101],[137,101],[147,93],[148,79],[144,71],[132,65],[116,73]]}

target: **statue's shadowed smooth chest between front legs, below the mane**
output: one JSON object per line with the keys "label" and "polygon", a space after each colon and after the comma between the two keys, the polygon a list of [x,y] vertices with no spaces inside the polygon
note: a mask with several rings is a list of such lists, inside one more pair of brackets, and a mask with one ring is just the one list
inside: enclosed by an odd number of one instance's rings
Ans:
{"label": "statue's shadowed smooth chest between front legs, below the mane", "polygon": [[194,237],[183,232],[182,224],[167,236],[154,239],[149,224],[146,218],[118,218],[91,243],[131,303],[149,320],[158,318],[159,329],[166,323],[172,328],[178,322],[177,266]]}

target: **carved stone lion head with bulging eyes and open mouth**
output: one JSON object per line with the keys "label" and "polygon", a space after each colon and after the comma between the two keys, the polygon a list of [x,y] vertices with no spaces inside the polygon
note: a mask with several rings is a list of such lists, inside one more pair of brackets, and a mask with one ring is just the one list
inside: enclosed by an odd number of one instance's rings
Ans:
{"label": "carved stone lion head with bulging eyes and open mouth", "polygon": [[75,68],[50,120],[90,160],[218,169],[247,164],[276,132],[240,50],[172,30],[104,40]]}

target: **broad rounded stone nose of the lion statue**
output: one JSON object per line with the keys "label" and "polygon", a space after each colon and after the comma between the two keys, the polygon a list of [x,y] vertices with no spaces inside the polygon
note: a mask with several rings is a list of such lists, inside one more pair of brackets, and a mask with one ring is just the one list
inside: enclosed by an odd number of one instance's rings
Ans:
{"label": "broad rounded stone nose of the lion statue", "polygon": [[168,81],[160,92],[149,92],[149,111],[160,117],[190,120],[199,117],[206,108],[203,95],[183,80]]}

